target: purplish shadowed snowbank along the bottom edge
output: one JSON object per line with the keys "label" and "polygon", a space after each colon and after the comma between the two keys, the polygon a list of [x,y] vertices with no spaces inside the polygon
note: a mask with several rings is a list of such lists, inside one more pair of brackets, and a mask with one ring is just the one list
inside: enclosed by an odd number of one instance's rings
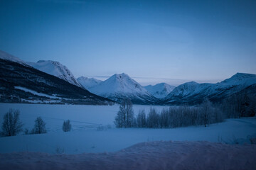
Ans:
{"label": "purplish shadowed snowbank along the bottom edge", "polygon": [[0,169],[256,169],[256,145],[142,142],[97,154],[0,154]]}

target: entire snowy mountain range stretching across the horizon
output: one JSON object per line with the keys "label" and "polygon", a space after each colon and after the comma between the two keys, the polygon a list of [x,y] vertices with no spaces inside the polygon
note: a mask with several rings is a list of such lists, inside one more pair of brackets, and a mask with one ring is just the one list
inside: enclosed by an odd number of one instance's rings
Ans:
{"label": "entire snowy mountain range stretching across the horizon", "polygon": [[124,73],[105,81],[75,79],[60,62],[23,62],[2,51],[0,64],[0,102],[110,104],[129,98],[134,104],[196,105],[206,98],[220,102],[239,93],[256,96],[255,74],[238,73],[217,84],[191,81],[177,87],[165,83],[141,86]]}

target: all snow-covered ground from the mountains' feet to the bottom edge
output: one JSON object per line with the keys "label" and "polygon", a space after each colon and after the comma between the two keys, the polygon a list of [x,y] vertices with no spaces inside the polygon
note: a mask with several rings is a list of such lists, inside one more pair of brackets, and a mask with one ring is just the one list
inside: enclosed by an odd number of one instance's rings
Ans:
{"label": "all snow-covered ground from the mountains' feet to the bottom edge", "polygon": [[[134,112],[151,106],[134,106]],[[48,133],[0,137],[0,169],[256,169],[256,118],[209,127],[114,128],[119,106],[0,103],[21,111],[24,128],[41,116]],[[164,106],[154,106],[161,111]],[[61,130],[71,120],[71,132]],[[178,141],[178,142],[175,142]],[[218,142],[218,143],[214,143]],[[222,143],[220,143],[222,142]],[[226,145],[240,143],[245,145]]]}

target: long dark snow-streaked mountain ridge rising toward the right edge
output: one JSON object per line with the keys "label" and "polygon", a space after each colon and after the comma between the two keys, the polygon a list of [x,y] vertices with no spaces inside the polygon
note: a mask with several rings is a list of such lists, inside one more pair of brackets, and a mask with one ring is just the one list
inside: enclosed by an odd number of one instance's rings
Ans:
{"label": "long dark snow-streaked mountain ridge rising toward the right edge", "polygon": [[211,101],[221,101],[226,96],[250,89],[256,84],[255,74],[237,73],[230,79],[225,79],[217,84],[198,84],[188,82],[177,86],[164,98],[167,104],[196,104],[208,98]]}

